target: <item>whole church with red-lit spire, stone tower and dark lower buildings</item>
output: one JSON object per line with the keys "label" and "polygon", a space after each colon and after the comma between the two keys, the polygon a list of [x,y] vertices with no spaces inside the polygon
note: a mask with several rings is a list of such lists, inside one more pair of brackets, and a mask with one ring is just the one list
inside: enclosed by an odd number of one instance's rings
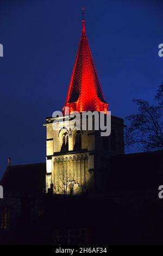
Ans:
{"label": "whole church with red-lit spire, stone tower and dark lower buildings", "polygon": [[101,136],[94,117],[92,129],[72,126],[75,111],[82,123],[84,111],[108,111],[84,20],[62,116],[44,124],[46,163],[9,159],[1,180],[0,244],[162,244],[163,152],[124,154],[123,119],[111,115],[111,134]]}

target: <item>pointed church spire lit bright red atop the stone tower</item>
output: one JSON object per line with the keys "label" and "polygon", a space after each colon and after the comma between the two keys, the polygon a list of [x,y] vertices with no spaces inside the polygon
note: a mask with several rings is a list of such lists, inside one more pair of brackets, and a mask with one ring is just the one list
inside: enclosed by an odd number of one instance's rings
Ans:
{"label": "pointed church spire lit bright red atop the stone tower", "polygon": [[63,111],[65,107],[70,108],[70,113],[73,111],[104,111],[106,113],[108,110],[108,104],[104,100],[89,43],[86,38],[84,13],[82,19],[82,35]]}

